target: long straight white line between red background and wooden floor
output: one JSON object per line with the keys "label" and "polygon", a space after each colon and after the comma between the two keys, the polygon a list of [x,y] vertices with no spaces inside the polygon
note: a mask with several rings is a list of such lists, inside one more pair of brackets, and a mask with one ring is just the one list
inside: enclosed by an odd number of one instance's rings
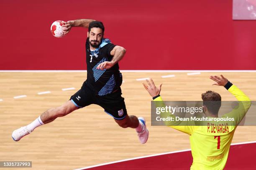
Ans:
{"label": "long straight white line between red background and wooden floor", "polygon": [[[121,72],[256,72],[256,70],[120,70]],[[87,72],[87,70],[0,70],[0,72]]]}

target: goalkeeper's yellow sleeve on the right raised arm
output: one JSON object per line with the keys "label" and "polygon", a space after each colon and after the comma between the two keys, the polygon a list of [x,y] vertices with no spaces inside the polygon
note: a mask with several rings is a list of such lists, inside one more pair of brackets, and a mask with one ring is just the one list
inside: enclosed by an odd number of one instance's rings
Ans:
{"label": "goalkeeper's yellow sleeve on the right raised arm", "polygon": [[236,99],[239,101],[239,105],[231,112],[223,115],[223,117],[234,117],[234,125],[237,126],[251,107],[251,100],[235,85],[231,85],[231,87],[228,88],[228,91],[236,97]]}

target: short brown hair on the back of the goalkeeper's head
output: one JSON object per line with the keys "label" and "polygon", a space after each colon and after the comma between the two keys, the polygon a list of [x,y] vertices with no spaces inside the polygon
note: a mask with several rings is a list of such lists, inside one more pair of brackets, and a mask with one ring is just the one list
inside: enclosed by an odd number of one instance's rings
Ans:
{"label": "short brown hair on the back of the goalkeeper's head", "polygon": [[203,105],[207,107],[210,113],[218,115],[221,106],[220,94],[213,91],[202,93]]}

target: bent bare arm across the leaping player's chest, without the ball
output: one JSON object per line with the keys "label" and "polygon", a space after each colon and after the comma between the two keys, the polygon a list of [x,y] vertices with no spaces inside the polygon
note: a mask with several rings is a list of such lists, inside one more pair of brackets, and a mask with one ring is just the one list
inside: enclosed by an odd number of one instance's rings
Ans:
{"label": "bent bare arm across the leaping player's chest, without the ball", "polygon": [[100,63],[97,66],[97,69],[104,70],[104,69],[110,69],[115,65],[118,61],[122,60],[123,56],[125,55],[125,48],[121,46],[115,46],[113,50],[110,51],[110,55],[113,56],[111,61],[105,61]]}

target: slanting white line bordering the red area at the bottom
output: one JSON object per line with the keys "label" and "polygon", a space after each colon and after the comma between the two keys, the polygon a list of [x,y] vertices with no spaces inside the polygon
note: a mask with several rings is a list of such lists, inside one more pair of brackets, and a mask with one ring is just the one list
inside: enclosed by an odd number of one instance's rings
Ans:
{"label": "slanting white line bordering the red area at the bottom", "polygon": [[[249,143],[256,143],[256,141],[241,142],[241,143],[231,143],[231,145],[242,145],[242,144],[249,144]],[[117,160],[117,161],[113,161],[113,162],[109,162],[109,163],[102,163],[102,164],[92,165],[92,166],[88,166],[88,167],[84,167],[84,168],[79,168],[79,169],[75,169],[75,170],[84,170],[84,169],[94,168],[94,167],[98,167],[98,166],[109,165],[109,164],[113,164],[113,163],[120,163],[120,162],[124,162],[124,161],[128,161],[128,160],[136,160],[136,159],[154,157],[154,156],[159,156],[159,155],[167,155],[167,154],[171,154],[171,153],[187,152],[187,151],[190,151],[190,150],[191,149],[177,150],[177,151],[173,151],[173,152],[159,153],[159,154],[141,156],[141,157],[136,157],[136,158],[124,159],[124,160]]]}

